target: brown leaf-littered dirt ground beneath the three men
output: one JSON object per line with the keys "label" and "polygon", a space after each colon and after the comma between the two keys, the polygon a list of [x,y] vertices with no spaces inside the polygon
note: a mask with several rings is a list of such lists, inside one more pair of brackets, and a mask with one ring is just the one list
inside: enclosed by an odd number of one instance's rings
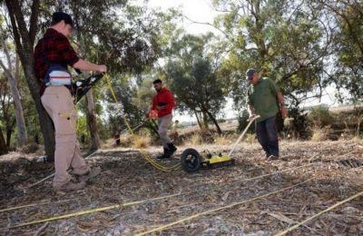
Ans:
{"label": "brown leaf-littered dirt ground beneath the three men", "polygon": [[[180,147],[171,161],[162,164],[178,163],[185,148]],[[195,148],[225,152],[229,147]],[[91,166],[101,166],[103,172],[99,178],[84,190],[72,193],[53,192],[50,181],[27,189],[54,168],[52,164],[32,162],[32,156],[13,152],[0,158],[0,209],[40,204],[12,211],[0,210],[0,234],[134,235],[309,180],[289,190],[235,204],[230,209],[213,211],[157,232],[161,235],[273,235],[363,190],[363,167],[359,161],[363,160],[363,143],[360,141],[282,142],[280,149],[281,160],[267,162],[257,143],[241,143],[234,166],[192,174],[182,170],[158,171],[136,150],[103,150],[87,160]],[[156,148],[147,150],[153,157],[158,151]],[[289,168],[292,170],[249,180]],[[175,193],[182,194],[59,221],[7,228],[27,221]],[[363,197],[289,234],[363,235]]]}

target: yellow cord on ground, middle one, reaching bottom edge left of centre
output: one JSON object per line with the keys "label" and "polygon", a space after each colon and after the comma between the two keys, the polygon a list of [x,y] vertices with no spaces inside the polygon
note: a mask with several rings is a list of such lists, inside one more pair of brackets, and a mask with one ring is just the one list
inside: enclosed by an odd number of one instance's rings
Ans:
{"label": "yellow cord on ground, middle one, reaching bottom edge left of centre", "polygon": [[[314,180],[314,178],[311,178],[305,182],[310,182],[312,180]],[[215,208],[215,209],[211,209],[209,211],[202,211],[200,213],[196,213],[196,214],[193,214],[191,216],[188,216],[188,217],[185,217],[185,218],[182,218],[181,220],[179,221],[173,221],[171,223],[168,223],[168,224],[164,224],[160,227],[157,227],[157,228],[154,228],[150,231],[144,231],[144,232],[141,232],[141,233],[137,233],[136,236],[141,236],[141,235],[146,235],[146,234],[149,234],[149,233],[152,233],[152,232],[156,232],[156,231],[163,231],[175,224],[179,224],[179,223],[182,223],[184,221],[190,221],[191,219],[194,219],[194,218],[197,218],[197,217],[200,217],[202,215],[207,215],[207,214],[211,214],[211,213],[214,213],[216,211],[222,211],[222,210],[225,210],[225,209],[230,209],[232,207],[235,207],[237,205],[241,205],[241,204],[244,204],[244,203],[247,203],[247,202],[252,202],[252,201],[256,201],[256,200],[259,200],[259,199],[262,199],[262,198],[266,198],[266,197],[269,197],[270,195],[273,195],[273,194],[276,194],[276,193],[279,193],[279,192],[284,192],[284,191],[287,191],[289,189],[293,189],[305,182],[299,182],[298,184],[295,184],[295,185],[292,185],[292,186],[289,186],[287,188],[283,188],[283,189],[280,189],[278,191],[275,191],[275,192],[269,192],[269,193],[266,193],[266,194],[263,194],[263,195],[260,195],[260,196],[257,196],[257,197],[254,197],[254,198],[251,198],[251,199],[248,199],[248,200],[244,200],[244,201],[241,201],[241,202],[234,202],[234,203],[231,203],[229,205],[226,205],[226,206],[222,206],[222,207],[218,207],[218,208]]]}

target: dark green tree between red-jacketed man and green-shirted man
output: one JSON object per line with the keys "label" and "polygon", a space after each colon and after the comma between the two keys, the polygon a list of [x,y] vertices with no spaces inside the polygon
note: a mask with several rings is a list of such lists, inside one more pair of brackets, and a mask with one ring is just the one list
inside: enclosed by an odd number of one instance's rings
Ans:
{"label": "dark green tree between red-jacketed man and green-shirted man", "polygon": [[[203,123],[214,119],[226,103],[228,84],[217,74],[209,51],[213,35],[186,34],[172,45],[172,54],[162,72],[176,95],[180,111],[202,114]],[[217,124],[216,124],[217,125]]]}

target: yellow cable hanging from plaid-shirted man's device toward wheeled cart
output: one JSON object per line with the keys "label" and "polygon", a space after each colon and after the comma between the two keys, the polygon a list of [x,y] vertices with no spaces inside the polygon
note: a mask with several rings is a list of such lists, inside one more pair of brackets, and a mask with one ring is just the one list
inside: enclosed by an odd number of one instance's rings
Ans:
{"label": "yellow cable hanging from plaid-shirted man's device toward wheeled cart", "polygon": [[[106,79],[106,82],[108,84],[108,87],[109,87],[109,90],[111,92],[111,94],[113,95],[113,100],[115,103],[118,103],[118,100],[116,98],[116,95],[113,91],[113,85],[111,83],[111,80],[110,80],[110,77],[108,74],[105,74],[104,75],[105,79]],[[127,129],[129,130],[129,132],[131,133],[132,137],[135,138],[135,133],[133,133],[132,131],[132,128],[130,126],[130,123],[126,120],[126,117],[123,115],[123,123],[125,123]],[[143,158],[147,161],[147,162],[150,162],[152,164],[152,166],[154,166],[156,169],[162,171],[162,172],[172,172],[172,171],[176,171],[178,169],[181,168],[181,164],[178,163],[178,164],[175,164],[173,166],[165,166],[165,165],[162,165],[161,163],[155,161],[154,159],[152,159],[152,157],[147,153],[147,152],[144,152],[143,150],[140,150],[140,152],[142,153],[142,156]]]}

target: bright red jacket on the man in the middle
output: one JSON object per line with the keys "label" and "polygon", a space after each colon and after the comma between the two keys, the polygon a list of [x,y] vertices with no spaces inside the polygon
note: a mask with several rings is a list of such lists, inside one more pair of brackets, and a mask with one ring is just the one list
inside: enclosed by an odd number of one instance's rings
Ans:
{"label": "bright red jacket on the man in the middle", "polygon": [[156,93],[152,98],[152,110],[156,110],[157,105],[165,105],[165,109],[158,111],[159,117],[172,113],[172,108],[175,106],[172,92],[163,87],[158,93]]}

